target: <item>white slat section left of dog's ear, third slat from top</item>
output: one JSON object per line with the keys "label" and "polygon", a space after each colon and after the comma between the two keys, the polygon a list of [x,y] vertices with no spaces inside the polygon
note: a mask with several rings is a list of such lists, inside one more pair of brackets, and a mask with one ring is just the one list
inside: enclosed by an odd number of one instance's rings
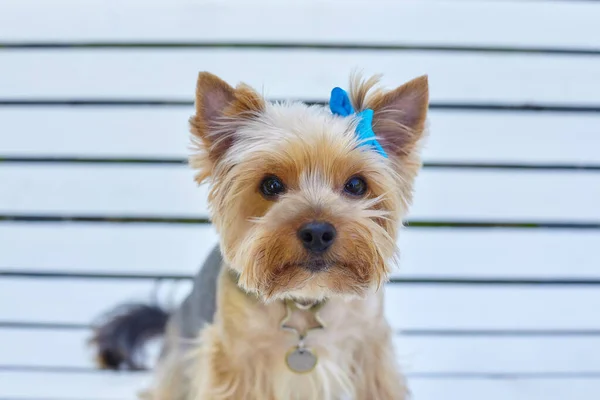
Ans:
{"label": "white slat section left of dog's ear, third slat from top", "polygon": [[[0,135],[0,152],[3,156],[183,159],[190,152],[188,119],[193,113],[192,106],[0,108],[0,131],[6,133]],[[31,119],[37,123],[23,123]]]}

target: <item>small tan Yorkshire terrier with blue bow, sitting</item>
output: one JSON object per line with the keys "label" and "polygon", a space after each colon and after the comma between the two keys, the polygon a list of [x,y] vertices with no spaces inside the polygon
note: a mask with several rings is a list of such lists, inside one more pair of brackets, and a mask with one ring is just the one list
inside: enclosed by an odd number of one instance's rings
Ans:
{"label": "small tan Yorkshire terrier with blue bow, sitting", "polygon": [[173,313],[132,305],[96,326],[104,368],[141,368],[152,400],[403,400],[384,283],[426,136],[427,76],[353,75],[329,109],[267,102],[201,72],[189,164],[210,182],[219,246]]}

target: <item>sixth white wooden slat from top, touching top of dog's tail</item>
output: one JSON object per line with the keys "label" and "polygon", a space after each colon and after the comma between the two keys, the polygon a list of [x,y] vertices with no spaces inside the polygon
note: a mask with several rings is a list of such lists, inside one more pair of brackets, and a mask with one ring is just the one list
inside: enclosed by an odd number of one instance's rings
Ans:
{"label": "sixth white wooden slat from top, touching top of dog's tail", "polygon": [[[190,285],[165,283],[159,297],[176,305]],[[148,300],[152,288],[137,281],[4,278],[0,320],[86,324],[115,304]],[[389,285],[385,296],[395,329],[600,329],[594,287]]]}

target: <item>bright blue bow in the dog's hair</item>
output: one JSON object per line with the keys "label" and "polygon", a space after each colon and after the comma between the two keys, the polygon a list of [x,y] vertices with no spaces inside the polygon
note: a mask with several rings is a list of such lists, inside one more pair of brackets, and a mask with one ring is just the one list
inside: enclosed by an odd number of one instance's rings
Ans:
{"label": "bright blue bow in the dog's hair", "polygon": [[370,146],[373,150],[387,158],[387,153],[383,150],[383,147],[377,141],[375,132],[373,132],[373,110],[367,108],[359,112],[358,114],[354,111],[348,93],[342,88],[336,87],[331,91],[331,98],[329,100],[329,108],[335,115],[347,117],[353,114],[359,118],[358,125],[356,127],[356,136],[361,146]]}

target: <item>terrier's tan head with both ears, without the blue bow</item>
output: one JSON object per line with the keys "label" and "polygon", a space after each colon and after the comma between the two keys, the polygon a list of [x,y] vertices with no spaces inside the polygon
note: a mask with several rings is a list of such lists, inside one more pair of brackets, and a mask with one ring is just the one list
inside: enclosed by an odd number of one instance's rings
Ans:
{"label": "terrier's tan head with both ears, without the blue bow", "polygon": [[360,145],[355,117],[302,103],[269,104],[251,88],[201,73],[198,182],[211,179],[213,222],[239,284],[265,300],[361,296],[381,285],[419,169],[425,77],[391,92],[354,80],[358,111],[389,158]]}

